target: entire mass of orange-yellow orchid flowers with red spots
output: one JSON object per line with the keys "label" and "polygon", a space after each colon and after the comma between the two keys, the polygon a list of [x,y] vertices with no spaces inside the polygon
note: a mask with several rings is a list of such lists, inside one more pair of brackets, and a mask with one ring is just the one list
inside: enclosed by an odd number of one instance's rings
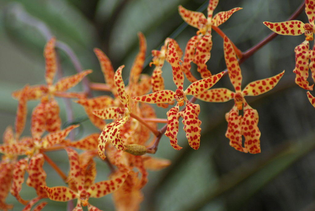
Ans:
{"label": "entire mass of orange-yellow orchid flowers with red spots", "polygon": [[[117,210],[138,210],[143,195],[141,189],[148,179],[147,170],[160,170],[170,165],[166,159],[153,158],[147,153],[156,152],[156,144],[162,134],[170,140],[170,145],[180,150],[177,134],[179,119],[182,117],[183,129],[192,149],[200,147],[201,121],[199,104],[195,100],[205,102],[226,102],[234,100],[234,105],[225,115],[227,121],[226,138],[235,149],[256,154],[261,152],[258,128],[258,112],[250,107],[245,96],[257,96],[270,91],[281,79],[284,71],[267,79],[256,80],[245,88],[242,85],[242,73],[238,58],[243,53],[218,28],[231,15],[242,9],[234,8],[219,12],[213,16],[218,0],[209,0],[208,16],[203,13],[178,7],[179,14],[190,26],[198,28],[196,35],[187,42],[185,52],[173,38],[166,38],[160,50],[152,50],[152,62],[155,68],[152,76],[141,74],[146,54],[146,39],[142,33],[139,37],[139,53],[129,73],[128,85],[125,85],[122,75],[125,74],[124,65],[115,71],[111,61],[105,53],[95,48],[100,67],[106,81],[105,84],[93,86],[90,89],[110,91],[112,95],[91,97],[85,92],[66,92],[79,83],[83,77],[91,73],[86,70],[73,76],[59,79],[53,84],[57,71],[55,52],[56,39],[50,38],[44,48],[46,62],[46,85],[25,85],[21,90],[13,92],[12,96],[18,100],[14,131],[8,127],[3,134],[3,144],[0,152],[3,154],[0,162],[0,209],[8,210],[12,205],[6,204],[5,199],[10,192],[25,205],[24,210],[31,210],[39,200],[47,199],[67,202],[77,199],[73,210],[100,210],[89,202],[89,198],[100,198],[113,193],[113,201]],[[312,71],[315,81],[315,46],[309,50],[309,41],[314,32],[315,10],[313,1],[306,0],[306,15],[309,23],[301,21],[286,21],[281,23],[264,22],[272,31],[284,35],[299,35],[303,32],[306,41],[296,47],[295,82],[304,89],[312,90],[308,85],[308,68]],[[223,38],[224,58],[227,70],[212,74],[207,66],[212,48],[211,30],[214,29]],[[182,58],[183,56],[183,58]],[[182,58],[182,59],[181,59]],[[311,60],[311,62],[309,62]],[[167,61],[172,67],[172,79],[176,85],[174,90],[164,87],[162,68]],[[191,62],[197,65],[200,79],[193,76]],[[165,71],[165,70],[164,70]],[[169,70],[166,70],[169,71]],[[212,88],[223,76],[227,75],[234,87],[234,91],[226,88]],[[185,78],[191,83],[184,89]],[[152,93],[150,93],[152,90]],[[192,99],[187,96],[192,95]],[[307,92],[310,102],[315,107],[315,98]],[[59,106],[55,97],[76,98],[74,102],[83,106],[89,120],[100,132],[92,133],[81,140],[67,139],[67,135],[79,125],[61,128]],[[26,104],[30,100],[40,100],[31,115],[31,136],[20,137],[26,122]],[[164,129],[157,129],[161,121],[150,104],[157,104],[162,108],[172,106],[166,112]],[[183,107],[182,109],[180,109]],[[243,110],[242,115],[239,111]],[[105,122],[104,120],[112,120]],[[45,134],[45,135],[44,135]],[[242,140],[244,137],[244,141]],[[155,147],[152,147],[152,145]],[[69,174],[66,176],[53,161],[45,154],[46,151],[66,150],[69,159]],[[82,152],[79,154],[76,149]],[[95,182],[96,165],[94,158],[106,160],[111,167],[111,175],[107,180]],[[44,162],[49,163],[61,176],[65,184],[48,187]],[[23,199],[20,196],[24,174],[28,173],[26,185],[36,190],[37,196]],[[49,201],[37,204],[34,210],[41,210]]]}

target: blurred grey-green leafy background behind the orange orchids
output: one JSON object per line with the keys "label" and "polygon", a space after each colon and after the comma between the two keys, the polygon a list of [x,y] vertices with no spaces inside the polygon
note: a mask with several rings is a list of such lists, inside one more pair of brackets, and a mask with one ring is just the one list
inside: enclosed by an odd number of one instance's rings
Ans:
{"label": "blurred grey-green leafy background behind the orange orchids", "polygon": [[[153,67],[148,66],[152,59],[151,50],[160,49],[168,36],[175,38],[184,50],[189,38],[197,31],[183,24],[177,6],[181,4],[186,9],[206,13],[207,2],[0,0],[0,133],[8,125],[14,125],[17,101],[11,97],[11,92],[25,84],[45,83],[43,48],[47,34],[51,33],[69,45],[83,69],[93,69],[93,73],[88,75],[90,81],[104,82],[93,53],[95,47],[106,53],[114,69],[124,64],[123,77],[127,79],[139,49],[137,32],[143,32],[147,39],[143,73],[151,74]],[[243,8],[220,28],[240,50],[245,51],[271,32],[262,24],[263,21],[285,21],[301,3],[302,0],[221,0],[214,14],[234,7]],[[307,22],[304,12],[297,19]],[[223,42],[214,31],[212,36],[213,48],[207,64],[212,73],[219,73],[226,68]],[[183,147],[180,151],[174,150],[166,137],[161,139],[154,156],[170,159],[172,165],[149,173],[149,182],[143,189],[145,199],[141,211],[315,210],[315,109],[309,103],[306,91],[295,85],[295,74],[292,72],[295,67],[294,48],[303,40],[304,35],[277,36],[240,66],[242,87],[285,69],[284,77],[273,90],[258,97],[246,98],[260,116],[261,154],[245,154],[229,146],[229,140],[225,137],[225,113],[232,108],[232,101],[197,101],[202,120],[200,148],[194,150],[189,147],[183,130],[178,135],[179,145]],[[57,52],[63,75],[75,74],[69,57],[62,50],[58,49]],[[170,68],[165,62],[162,70],[166,89],[175,88]],[[198,76],[193,64],[192,72]],[[189,84],[187,81],[185,83]],[[232,89],[228,77],[222,78],[215,87]],[[80,91],[82,85],[72,90]],[[102,94],[105,93],[94,92],[94,96]],[[58,102],[60,116],[66,125],[65,103],[63,99],[58,99]],[[37,103],[30,101],[27,104],[28,118],[23,135],[30,135],[31,111]],[[76,138],[97,132],[89,121],[83,121],[83,108],[75,103],[72,103],[72,107],[75,120],[81,122]],[[157,117],[166,118],[167,111],[157,108]],[[68,171],[65,151],[47,155],[59,163],[64,172]],[[97,181],[106,179],[109,174],[106,163],[95,160],[98,165]],[[48,186],[64,185],[50,166],[45,164],[44,169],[48,174]],[[24,185],[21,195],[31,199],[35,191]],[[111,211],[114,210],[111,197],[90,199],[89,202],[102,210]],[[7,202],[15,205],[13,210],[23,208],[12,196],[8,197]],[[66,203],[49,201],[43,210],[65,209]]]}

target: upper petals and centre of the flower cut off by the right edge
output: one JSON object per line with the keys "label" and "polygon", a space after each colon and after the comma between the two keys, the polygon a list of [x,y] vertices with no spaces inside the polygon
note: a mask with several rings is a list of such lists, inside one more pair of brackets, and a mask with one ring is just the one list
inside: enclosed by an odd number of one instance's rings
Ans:
{"label": "upper petals and centre of the flower cut off by the right edge", "polygon": [[284,21],[272,23],[265,21],[264,24],[273,32],[281,35],[301,35],[305,34],[305,40],[313,40],[313,33],[315,30],[314,20],[315,20],[315,2],[312,0],[305,0],[305,13],[308,18],[308,23],[303,23],[302,21]]}

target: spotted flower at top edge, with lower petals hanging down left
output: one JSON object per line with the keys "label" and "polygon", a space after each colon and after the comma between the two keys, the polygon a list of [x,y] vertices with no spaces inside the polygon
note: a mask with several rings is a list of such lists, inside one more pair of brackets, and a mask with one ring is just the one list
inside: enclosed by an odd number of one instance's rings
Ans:
{"label": "spotted flower at top edge, with lower petals hanging down left", "polygon": [[190,26],[198,28],[197,35],[190,38],[187,42],[182,64],[182,70],[190,82],[197,80],[190,72],[191,62],[197,65],[197,70],[202,78],[211,76],[206,65],[206,62],[210,59],[210,50],[212,48],[211,26],[220,26],[227,21],[234,12],[242,9],[237,7],[229,11],[219,12],[212,16],[218,3],[219,0],[209,0],[207,18],[201,12],[185,9],[181,5],[178,6],[178,11],[182,19]]}

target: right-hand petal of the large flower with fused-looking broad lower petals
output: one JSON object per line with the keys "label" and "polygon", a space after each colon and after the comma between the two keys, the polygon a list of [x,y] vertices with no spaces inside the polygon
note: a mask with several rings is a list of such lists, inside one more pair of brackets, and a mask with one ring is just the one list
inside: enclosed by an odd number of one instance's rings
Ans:
{"label": "right-hand petal of the large flower with fused-looking broad lower petals", "polygon": [[278,84],[283,74],[284,71],[270,78],[256,80],[249,83],[242,91],[243,96],[256,96],[271,90],[273,87],[275,87],[275,85]]}

